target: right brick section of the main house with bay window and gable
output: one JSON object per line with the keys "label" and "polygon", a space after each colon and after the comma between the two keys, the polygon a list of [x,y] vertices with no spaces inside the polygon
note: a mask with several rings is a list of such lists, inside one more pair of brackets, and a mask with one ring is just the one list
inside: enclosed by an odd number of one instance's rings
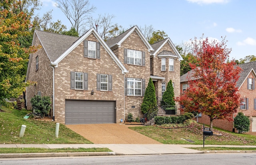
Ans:
{"label": "right brick section of the main house with bay window and gable", "polygon": [[[151,46],[154,51],[150,53],[150,77],[154,82],[156,96],[160,103],[170,80],[174,88],[174,97],[180,95],[180,61],[183,59],[170,38]],[[178,103],[176,105],[178,106]],[[179,112],[178,110],[177,115],[180,114]]]}

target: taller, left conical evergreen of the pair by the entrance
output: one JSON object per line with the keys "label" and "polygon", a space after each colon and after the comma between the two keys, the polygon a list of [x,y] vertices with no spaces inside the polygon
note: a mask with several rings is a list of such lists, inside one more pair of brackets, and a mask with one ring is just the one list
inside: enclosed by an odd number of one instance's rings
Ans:
{"label": "taller, left conical evergreen of the pair by the entrance", "polygon": [[143,114],[147,113],[148,111],[153,112],[157,109],[156,91],[151,78],[149,79],[140,109]]}

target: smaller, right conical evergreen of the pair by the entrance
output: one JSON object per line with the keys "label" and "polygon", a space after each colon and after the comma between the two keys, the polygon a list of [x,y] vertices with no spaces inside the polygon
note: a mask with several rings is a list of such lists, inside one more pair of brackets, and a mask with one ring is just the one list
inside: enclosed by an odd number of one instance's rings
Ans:
{"label": "smaller, right conical evergreen of the pair by the entrance", "polygon": [[172,80],[167,84],[166,91],[163,94],[161,106],[163,105],[175,105],[174,101],[174,89],[172,86]]}

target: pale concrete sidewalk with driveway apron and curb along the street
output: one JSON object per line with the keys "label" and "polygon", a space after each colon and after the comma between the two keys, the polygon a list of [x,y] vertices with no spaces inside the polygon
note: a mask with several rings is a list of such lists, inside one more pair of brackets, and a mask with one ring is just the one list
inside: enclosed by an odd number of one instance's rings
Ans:
{"label": "pale concrete sidewalk with driveway apron and curb along the street", "polygon": [[[109,148],[113,152],[82,152],[82,153],[10,153],[0,154],[0,158],[17,157],[73,157],[102,155],[158,155],[158,154],[189,154],[189,153],[256,153],[254,151],[198,151],[186,147],[203,147],[203,145],[175,144],[0,144],[0,148]],[[205,145],[205,147],[256,147],[254,145]]]}

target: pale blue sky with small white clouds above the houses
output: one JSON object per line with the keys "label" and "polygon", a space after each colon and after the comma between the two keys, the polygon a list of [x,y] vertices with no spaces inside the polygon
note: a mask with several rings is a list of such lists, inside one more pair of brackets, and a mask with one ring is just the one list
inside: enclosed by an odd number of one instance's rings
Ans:
{"label": "pale blue sky with small white clouds above the houses", "polygon": [[[221,41],[226,37],[230,59],[256,56],[255,0],[89,0],[98,14],[114,15],[113,23],[129,29],[152,25],[163,30],[175,45],[194,38]],[[52,10],[52,21],[60,20],[68,30],[71,23],[56,7],[55,0],[42,0],[40,15]]]}

